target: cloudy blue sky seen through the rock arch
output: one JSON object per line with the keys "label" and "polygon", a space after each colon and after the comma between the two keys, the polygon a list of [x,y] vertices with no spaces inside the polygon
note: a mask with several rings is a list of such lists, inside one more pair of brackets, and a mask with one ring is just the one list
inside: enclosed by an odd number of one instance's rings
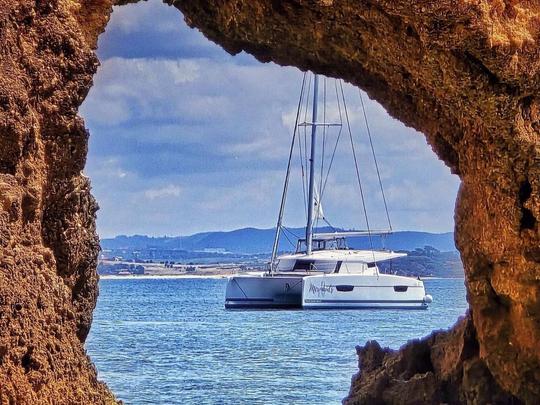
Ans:
{"label": "cloudy blue sky seen through the rock arch", "polygon": [[[98,56],[80,113],[91,134],[84,172],[100,205],[102,238],[275,226],[303,72],[231,56],[158,0],[115,7]],[[336,120],[335,81],[321,79],[321,88],[325,82],[327,121]],[[360,93],[344,87],[370,226],[383,228]],[[422,134],[363,100],[393,228],[453,230],[458,178]],[[327,145],[337,130],[327,133]],[[360,229],[366,224],[347,136],[322,202],[332,225]],[[305,224],[303,201],[295,150],[286,225]]]}

